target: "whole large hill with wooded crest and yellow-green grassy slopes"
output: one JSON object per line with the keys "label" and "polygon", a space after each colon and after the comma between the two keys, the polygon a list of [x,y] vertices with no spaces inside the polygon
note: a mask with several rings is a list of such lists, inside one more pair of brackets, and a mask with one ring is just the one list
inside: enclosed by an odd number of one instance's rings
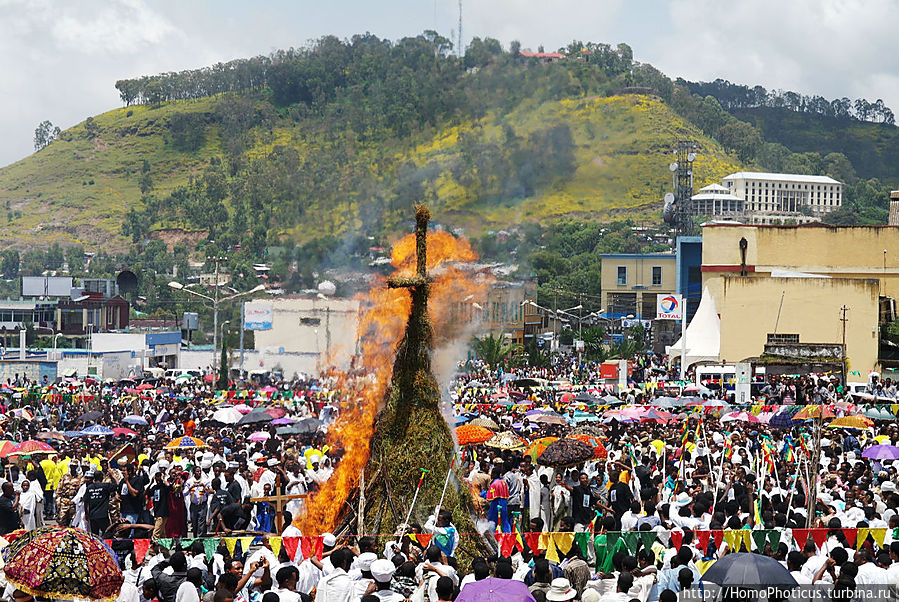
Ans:
{"label": "whole large hill with wooded crest and yellow-green grassy slopes", "polygon": [[700,185],[740,167],[666,104],[664,85],[615,92],[660,75],[625,45],[541,64],[491,40],[463,59],[441,44],[323,38],[215,73],[118,82],[142,104],[0,169],[2,244],[122,252],[183,228],[259,257],[328,235],[389,237],[422,200],[477,236],[568,215],[657,217],[679,139],[702,149]]}

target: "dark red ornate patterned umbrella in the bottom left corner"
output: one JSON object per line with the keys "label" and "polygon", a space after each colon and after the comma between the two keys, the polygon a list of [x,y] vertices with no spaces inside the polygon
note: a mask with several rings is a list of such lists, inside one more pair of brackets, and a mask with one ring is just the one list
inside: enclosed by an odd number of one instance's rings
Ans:
{"label": "dark red ornate patterned umbrella in the bottom left corner", "polygon": [[6,580],[33,596],[114,600],[124,581],[103,540],[81,529],[41,527],[14,536],[3,560]]}

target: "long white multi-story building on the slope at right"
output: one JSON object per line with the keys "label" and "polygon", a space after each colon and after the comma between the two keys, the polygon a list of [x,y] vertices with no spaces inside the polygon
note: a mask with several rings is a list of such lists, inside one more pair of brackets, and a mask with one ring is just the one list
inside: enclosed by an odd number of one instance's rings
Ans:
{"label": "long white multi-story building on the slope at right", "polygon": [[[843,184],[827,176],[740,171],[725,176],[721,182],[729,198],[742,201],[742,217],[753,224],[819,221],[843,205]],[[734,204],[702,203],[707,200],[704,196],[708,196],[708,193],[703,195],[705,190],[701,189],[693,197],[694,207],[697,202],[713,210],[722,205],[734,207]],[[720,194],[723,190],[719,188],[715,192]],[[706,215],[735,217],[732,211]]]}

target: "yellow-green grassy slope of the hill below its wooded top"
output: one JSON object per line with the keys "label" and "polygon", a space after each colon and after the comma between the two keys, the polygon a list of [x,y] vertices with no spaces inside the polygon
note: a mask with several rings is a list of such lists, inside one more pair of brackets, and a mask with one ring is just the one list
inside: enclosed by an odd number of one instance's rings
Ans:
{"label": "yellow-green grassy slope of the hill below its wooded top", "polygon": [[[221,117],[222,105],[233,102],[234,96],[109,111],[93,118],[93,133],[79,124],[47,148],[0,169],[0,223],[7,226],[2,245],[59,242],[121,250],[129,243],[122,232],[126,214],[157,202],[160,209],[154,210],[145,229],[198,227],[195,214],[202,206],[178,208],[164,199],[181,198],[172,195],[179,188],[188,194],[210,171],[222,174],[227,183],[223,215],[233,219],[239,205],[249,202],[238,200],[244,193],[235,192],[241,170],[249,174],[242,182],[251,176],[270,180],[265,170],[281,165],[288,155],[296,161],[291,167],[296,171],[286,173],[307,179],[292,184],[290,198],[263,199],[277,206],[298,205],[294,213],[270,215],[274,234],[269,242],[304,242],[322,232],[370,228],[372,198],[384,199],[374,221],[386,231],[404,227],[408,205],[420,199],[431,203],[435,221],[473,235],[570,214],[658,215],[661,197],[670,187],[670,149],[683,138],[696,140],[702,148],[695,166],[698,185],[740,167],[717,143],[650,96],[531,98],[506,113],[490,110],[481,118],[423,128],[406,138],[369,141],[349,134],[335,140],[333,132],[316,130],[308,120],[275,117],[246,128],[238,151],[226,148],[231,136],[223,134]],[[251,112],[269,107],[261,96],[236,96]],[[185,115],[194,116],[196,124],[190,150],[173,132],[174,121]],[[541,167],[541,156],[548,152],[543,146],[546,132],[562,132],[562,142],[548,142],[558,147],[556,155],[562,158],[558,165]],[[523,156],[516,165],[488,160],[503,156],[510,144]],[[336,178],[307,173],[327,165],[321,154],[335,149],[340,150],[333,162]],[[239,160],[241,167],[224,167],[229,160]],[[534,185],[503,181],[524,177],[529,161],[542,174]],[[153,183],[149,194],[142,193],[139,184],[145,162]],[[342,177],[348,181],[341,182]],[[207,181],[204,190],[208,187]],[[279,191],[268,192],[277,196]],[[263,188],[246,193],[265,194]]]}

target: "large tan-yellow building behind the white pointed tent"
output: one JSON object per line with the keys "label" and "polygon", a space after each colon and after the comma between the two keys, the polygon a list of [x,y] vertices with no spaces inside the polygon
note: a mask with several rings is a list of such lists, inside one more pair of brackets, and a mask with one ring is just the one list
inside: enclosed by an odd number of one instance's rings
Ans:
{"label": "large tan-yellow building behind the white pointed tent", "polygon": [[722,360],[762,356],[769,335],[841,343],[845,306],[848,379],[859,380],[884,363],[880,327],[895,319],[899,228],[709,224],[702,280],[721,314]]}

